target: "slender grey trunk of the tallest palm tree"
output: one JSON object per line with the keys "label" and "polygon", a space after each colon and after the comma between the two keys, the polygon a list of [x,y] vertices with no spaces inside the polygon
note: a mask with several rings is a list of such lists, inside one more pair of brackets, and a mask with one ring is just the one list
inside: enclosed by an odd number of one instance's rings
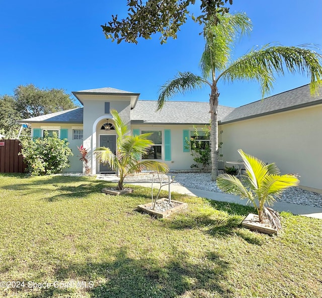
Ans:
{"label": "slender grey trunk of the tallest palm tree", "polygon": [[210,94],[210,143],[211,143],[211,180],[218,176],[218,89],[215,82]]}

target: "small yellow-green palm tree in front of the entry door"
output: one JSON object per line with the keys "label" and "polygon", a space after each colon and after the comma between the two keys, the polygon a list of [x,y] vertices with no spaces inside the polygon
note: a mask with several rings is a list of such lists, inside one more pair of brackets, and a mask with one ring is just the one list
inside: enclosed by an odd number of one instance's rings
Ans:
{"label": "small yellow-green palm tree in front of the entry door", "polygon": [[99,147],[94,150],[94,154],[99,162],[109,164],[114,170],[118,170],[120,181],[118,182],[118,190],[124,187],[124,178],[129,174],[140,172],[143,168],[156,170],[158,172],[168,172],[169,167],[159,161],[142,160],[140,156],[149,152],[149,148],[153,146],[153,142],[148,140],[149,134],[141,134],[131,136],[128,126],[123,122],[116,110],[111,110],[114,120],[114,127],[117,133],[116,154],[110,148]]}

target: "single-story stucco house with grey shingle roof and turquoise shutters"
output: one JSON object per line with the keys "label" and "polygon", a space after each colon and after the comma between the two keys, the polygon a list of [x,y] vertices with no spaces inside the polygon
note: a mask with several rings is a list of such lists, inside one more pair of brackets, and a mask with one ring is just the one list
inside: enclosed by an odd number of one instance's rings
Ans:
{"label": "single-story stucco house with grey shingle roof and turquoise shutters", "polygon": [[[83,107],[20,121],[32,124],[33,137],[56,132],[67,138],[74,156],[68,171],[82,172],[77,146],[89,150],[92,173],[104,173],[93,151],[115,150],[116,133],[110,114],[116,109],[132,134],[152,132],[153,149],[144,158],[158,159],[172,170],[190,169],[193,157],[186,138],[193,126],[209,124],[208,102],[168,101],[156,111],[157,101],[138,100],[139,93],[114,88],[73,92]],[[237,149],[265,162],[276,162],[282,173],[298,173],[301,186],[322,190],[322,96],[311,96],[305,85],[237,108],[219,105],[219,142],[224,161],[238,160]]]}

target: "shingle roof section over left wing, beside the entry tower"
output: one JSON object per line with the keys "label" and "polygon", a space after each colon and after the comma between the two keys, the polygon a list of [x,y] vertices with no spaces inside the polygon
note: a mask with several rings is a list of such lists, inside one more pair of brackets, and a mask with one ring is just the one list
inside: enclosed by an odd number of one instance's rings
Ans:
{"label": "shingle roof section over left wing, beside the entry tower", "polygon": [[55,112],[19,121],[20,123],[83,123],[83,107]]}

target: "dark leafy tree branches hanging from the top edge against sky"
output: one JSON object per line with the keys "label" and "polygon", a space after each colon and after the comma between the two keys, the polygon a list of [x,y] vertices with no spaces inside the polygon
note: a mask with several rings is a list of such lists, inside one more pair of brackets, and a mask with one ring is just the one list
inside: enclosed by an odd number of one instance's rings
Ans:
{"label": "dark leafy tree branches hanging from the top edge against sky", "polygon": [[[206,24],[217,14],[228,12],[224,7],[228,0],[201,0],[200,15],[195,17],[189,12],[189,6],[196,5],[196,0],[128,0],[128,17],[118,20],[118,16],[112,15],[112,21],[108,25],[102,25],[106,38],[115,39],[117,43],[122,40],[137,43],[139,37],[151,38],[156,32],[161,33],[161,43],[167,41],[168,37],[177,38],[180,26],[186,23],[188,17],[199,24]],[[229,0],[232,4],[232,0]]]}

